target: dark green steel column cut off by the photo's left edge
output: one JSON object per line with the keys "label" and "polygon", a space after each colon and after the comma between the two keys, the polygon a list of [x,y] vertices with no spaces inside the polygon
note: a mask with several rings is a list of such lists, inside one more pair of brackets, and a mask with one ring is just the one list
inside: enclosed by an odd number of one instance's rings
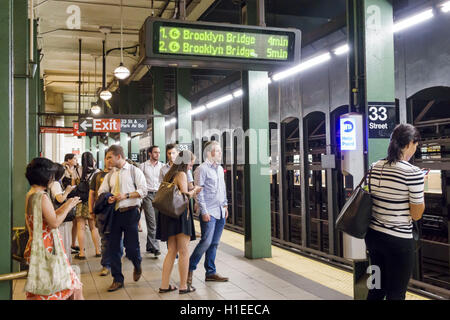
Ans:
{"label": "dark green steel column cut off by the photo's left edge", "polygon": [[[2,244],[11,243],[12,228],[12,138],[13,138],[13,53],[12,53],[12,0],[0,1],[0,241]],[[11,249],[3,245],[0,250],[0,274],[12,271]],[[0,282],[0,300],[11,300],[12,282]]]}

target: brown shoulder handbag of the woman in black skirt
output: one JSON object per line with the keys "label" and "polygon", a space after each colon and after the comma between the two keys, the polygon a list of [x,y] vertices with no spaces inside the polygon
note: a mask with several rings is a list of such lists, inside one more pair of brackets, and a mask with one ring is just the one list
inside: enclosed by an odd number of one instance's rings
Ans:
{"label": "brown shoulder handbag of the woman in black skirt", "polygon": [[183,214],[189,204],[189,198],[181,193],[177,185],[173,182],[161,182],[159,189],[152,201],[153,207],[162,214],[178,218]]}

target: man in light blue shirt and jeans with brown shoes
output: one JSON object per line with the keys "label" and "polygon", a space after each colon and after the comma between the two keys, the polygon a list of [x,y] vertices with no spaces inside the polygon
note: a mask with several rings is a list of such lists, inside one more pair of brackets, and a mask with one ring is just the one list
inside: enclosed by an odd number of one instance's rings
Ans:
{"label": "man in light blue shirt and jeans with brown shoes", "polygon": [[228,202],[222,160],[222,148],[217,141],[205,145],[207,159],[194,172],[195,185],[202,187],[197,195],[200,208],[200,227],[202,238],[189,259],[188,284],[192,284],[192,275],[197,264],[205,255],[205,281],[228,281],[216,272],[216,251],[220,237],[228,218]]}

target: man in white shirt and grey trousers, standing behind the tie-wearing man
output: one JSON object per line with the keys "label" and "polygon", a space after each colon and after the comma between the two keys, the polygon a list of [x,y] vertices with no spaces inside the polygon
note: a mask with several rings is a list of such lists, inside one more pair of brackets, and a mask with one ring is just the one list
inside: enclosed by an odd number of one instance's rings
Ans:
{"label": "man in white shirt and grey trousers, standing behind the tie-wearing man", "polygon": [[161,150],[158,146],[151,146],[148,149],[149,159],[142,163],[139,168],[142,170],[147,182],[147,196],[142,201],[142,206],[147,223],[147,244],[148,253],[153,253],[155,258],[161,252],[159,250],[159,241],[156,240],[156,213],[153,208],[152,201],[155,199],[156,192],[159,189],[159,175],[164,164],[159,161]]}

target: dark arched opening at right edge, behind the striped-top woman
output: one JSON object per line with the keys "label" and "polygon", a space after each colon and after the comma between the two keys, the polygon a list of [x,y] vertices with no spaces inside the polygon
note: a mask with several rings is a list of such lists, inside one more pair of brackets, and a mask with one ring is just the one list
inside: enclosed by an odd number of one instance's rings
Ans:
{"label": "dark arched opening at right edge, behind the striped-top woman", "polygon": [[450,289],[450,88],[422,90],[407,101],[408,121],[421,141],[413,162],[430,169],[425,177],[425,212],[419,220],[417,280]]}

